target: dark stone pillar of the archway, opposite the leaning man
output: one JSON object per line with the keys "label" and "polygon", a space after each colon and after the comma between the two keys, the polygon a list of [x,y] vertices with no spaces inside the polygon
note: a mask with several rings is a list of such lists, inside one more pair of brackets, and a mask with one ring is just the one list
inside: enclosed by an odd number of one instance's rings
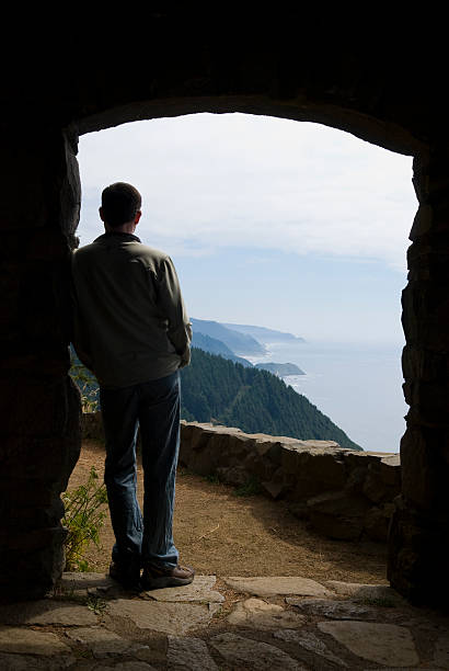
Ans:
{"label": "dark stone pillar of the archway, opposite the leaning man", "polygon": [[449,150],[414,161],[419,201],[403,292],[402,364],[410,405],[404,469],[390,538],[389,579],[416,603],[449,600]]}

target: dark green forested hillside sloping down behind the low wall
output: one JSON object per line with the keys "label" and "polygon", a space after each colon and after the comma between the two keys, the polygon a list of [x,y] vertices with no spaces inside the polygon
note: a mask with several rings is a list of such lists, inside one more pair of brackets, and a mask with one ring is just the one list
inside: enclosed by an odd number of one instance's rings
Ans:
{"label": "dark green forested hillside sloping down behind the low wall", "polygon": [[192,363],[182,369],[182,417],[215,421],[247,433],[331,440],[342,447],[358,445],[304,396],[266,371],[192,349]]}

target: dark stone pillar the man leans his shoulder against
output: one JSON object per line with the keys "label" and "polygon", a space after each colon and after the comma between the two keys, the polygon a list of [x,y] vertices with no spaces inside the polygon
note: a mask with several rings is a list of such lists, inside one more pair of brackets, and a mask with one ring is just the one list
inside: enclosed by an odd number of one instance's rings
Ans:
{"label": "dark stone pillar the man leans his shoulder against", "polygon": [[64,567],[59,494],[81,444],[67,375],[80,187],[60,132],[9,128],[0,162],[0,595],[20,599],[44,594]]}

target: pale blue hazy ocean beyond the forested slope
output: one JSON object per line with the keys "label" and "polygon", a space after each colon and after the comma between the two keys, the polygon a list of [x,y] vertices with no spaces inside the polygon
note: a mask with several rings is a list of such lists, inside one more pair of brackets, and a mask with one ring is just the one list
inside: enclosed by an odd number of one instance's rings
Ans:
{"label": "pale blue hazy ocean beyond the forested slope", "polygon": [[407,406],[402,394],[401,345],[266,343],[252,363],[295,363],[306,375],[285,377],[360,447],[399,452]]}

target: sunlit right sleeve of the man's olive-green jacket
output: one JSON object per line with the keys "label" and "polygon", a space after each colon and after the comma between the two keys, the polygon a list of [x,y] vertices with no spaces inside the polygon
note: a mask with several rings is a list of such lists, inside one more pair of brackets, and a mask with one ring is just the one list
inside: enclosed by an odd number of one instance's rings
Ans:
{"label": "sunlit right sleeve of the man's olive-green jacket", "polygon": [[173,261],[166,257],[159,272],[159,307],[168,321],[170,342],[181,356],[180,368],[191,362],[192,325],[188,320]]}

